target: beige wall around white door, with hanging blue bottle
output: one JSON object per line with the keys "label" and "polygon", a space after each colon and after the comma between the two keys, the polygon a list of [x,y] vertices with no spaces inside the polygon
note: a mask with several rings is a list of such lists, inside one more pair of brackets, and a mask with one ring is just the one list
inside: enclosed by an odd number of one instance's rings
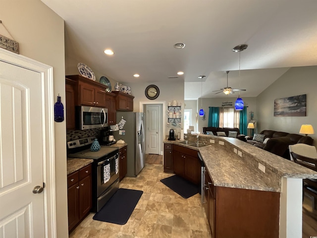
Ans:
{"label": "beige wall around white door, with hanging blue bottle", "polygon": [[[0,20],[20,55],[53,66],[54,96],[65,105],[64,21],[40,0],[1,0]],[[0,34],[7,35],[1,28]],[[54,122],[57,237],[68,237],[66,126]]]}

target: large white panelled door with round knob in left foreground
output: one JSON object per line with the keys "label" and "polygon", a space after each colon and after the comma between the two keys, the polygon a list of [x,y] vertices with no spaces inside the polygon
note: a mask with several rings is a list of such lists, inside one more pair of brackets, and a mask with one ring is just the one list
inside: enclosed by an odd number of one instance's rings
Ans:
{"label": "large white panelled door with round knob in left foreground", "polygon": [[45,149],[45,137],[52,136],[45,127],[45,107],[50,107],[45,105],[45,85],[41,72],[0,60],[1,238],[54,237],[54,231],[48,235],[45,212],[54,204],[46,204],[48,194],[41,192],[43,161],[52,156]]}

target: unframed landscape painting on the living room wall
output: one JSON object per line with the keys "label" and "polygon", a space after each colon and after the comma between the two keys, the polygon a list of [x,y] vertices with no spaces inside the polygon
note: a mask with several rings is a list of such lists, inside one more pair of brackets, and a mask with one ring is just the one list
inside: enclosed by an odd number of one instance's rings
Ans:
{"label": "unframed landscape painting on the living room wall", "polygon": [[275,99],[274,117],[306,117],[306,94]]}

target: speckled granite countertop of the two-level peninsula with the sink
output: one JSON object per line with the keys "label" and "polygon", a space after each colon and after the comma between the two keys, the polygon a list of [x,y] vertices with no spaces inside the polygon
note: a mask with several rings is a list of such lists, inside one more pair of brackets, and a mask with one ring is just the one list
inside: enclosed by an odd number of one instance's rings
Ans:
{"label": "speckled granite countertop of the two-level peninsula with the sink", "polygon": [[[209,143],[210,139],[213,143]],[[235,138],[200,135],[200,141],[209,146],[197,148],[167,139],[163,143],[200,151],[216,186],[280,192],[282,177],[317,179],[317,172]],[[219,141],[223,141],[223,145]],[[241,152],[241,157],[234,149]],[[258,169],[259,163],[265,166],[265,173]]]}

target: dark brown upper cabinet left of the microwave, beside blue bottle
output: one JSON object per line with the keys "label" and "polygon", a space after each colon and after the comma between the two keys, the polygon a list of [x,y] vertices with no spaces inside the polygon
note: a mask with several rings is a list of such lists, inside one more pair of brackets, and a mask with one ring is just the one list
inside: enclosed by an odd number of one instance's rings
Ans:
{"label": "dark brown upper cabinet left of the microwave, beside blue bottle", "polygon": [[66,78],[65,84],[65,113],[66,113],[66,129],[75,129],[75,86],[76,82]]}

